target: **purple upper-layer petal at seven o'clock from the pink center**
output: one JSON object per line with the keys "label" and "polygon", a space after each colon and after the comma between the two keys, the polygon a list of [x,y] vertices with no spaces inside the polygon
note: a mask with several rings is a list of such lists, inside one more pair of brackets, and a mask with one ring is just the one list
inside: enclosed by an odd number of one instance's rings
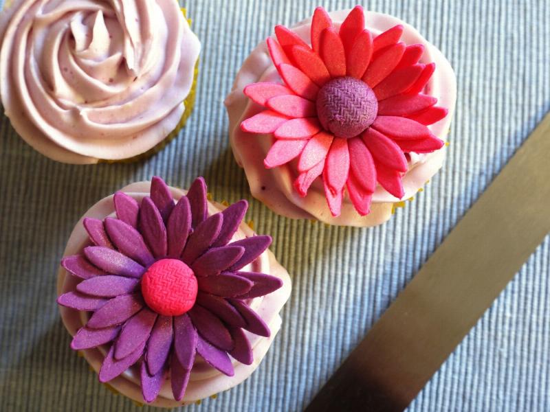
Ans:
{"label": "purple upper-layer petal at seven o'clock from the pink center", "polygon": [[146,342],[156,320],[157,314],[155,312],[143,308],[141,312],[127,321],[115,342],[115,358],[125,358],[136,347]]}

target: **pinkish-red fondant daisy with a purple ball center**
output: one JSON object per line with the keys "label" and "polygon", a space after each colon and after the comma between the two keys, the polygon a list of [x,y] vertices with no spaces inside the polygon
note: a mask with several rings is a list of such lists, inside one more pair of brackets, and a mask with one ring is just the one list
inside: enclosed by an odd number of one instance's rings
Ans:
{"label": "pinkish-red fondant daisy with a purple ball center", "polygon": [[298,157],[294,187],[306,196],[322,176],[333,216],[340,215],[344,189],[361,215],[369,214],[377,183],[402,198],[407,154],[443,146],[427,126],[448,111],[422,93],[435,65],[420,63],[423,45],[399,42],[402,32],[396,25],[373,37],[361,6],[338,29],[317,8],[311,47],[281,25],[275,27],[276,40],[267,38],[283,83],[244,89],[265,110],[245,119],[242,130],[274,137],[265,167]]}

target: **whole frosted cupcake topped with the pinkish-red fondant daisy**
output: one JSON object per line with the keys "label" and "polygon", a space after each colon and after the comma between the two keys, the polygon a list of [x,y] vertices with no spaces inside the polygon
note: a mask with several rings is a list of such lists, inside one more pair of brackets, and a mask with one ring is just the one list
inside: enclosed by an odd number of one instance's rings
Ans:
{"label": "whole frosted cupcake topped with the pinkish-red fondant daisy", "polygon": [[276,26],[225,105],[254,197],[289,218],[369,227],[441,168],[455,100],[434,45],[357,6]]}

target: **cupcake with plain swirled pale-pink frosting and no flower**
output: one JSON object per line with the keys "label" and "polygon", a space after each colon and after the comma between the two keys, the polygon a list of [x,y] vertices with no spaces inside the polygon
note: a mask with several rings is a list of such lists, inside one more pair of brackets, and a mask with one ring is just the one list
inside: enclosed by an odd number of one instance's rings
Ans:
{"label": "cupcake with plain swirled pale-pink frosting and no flower", "polygon": [[200,43],[176,0],[14,0],[0,45],[5,114],[56,161],[141,159],[192,109]]}

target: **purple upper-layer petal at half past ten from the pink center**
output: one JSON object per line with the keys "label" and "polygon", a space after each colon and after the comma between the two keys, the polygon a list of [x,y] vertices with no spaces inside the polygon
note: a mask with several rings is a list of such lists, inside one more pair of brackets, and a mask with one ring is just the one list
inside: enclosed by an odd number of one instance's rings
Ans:
{"label": "purple upper-layer petal at half past ten from the pink center", "polygon": [[106,218],[105,229],[115,247],[124,255],[144,266],[154,262],[155,258],[147,248],[140,232],[120,219]]}

